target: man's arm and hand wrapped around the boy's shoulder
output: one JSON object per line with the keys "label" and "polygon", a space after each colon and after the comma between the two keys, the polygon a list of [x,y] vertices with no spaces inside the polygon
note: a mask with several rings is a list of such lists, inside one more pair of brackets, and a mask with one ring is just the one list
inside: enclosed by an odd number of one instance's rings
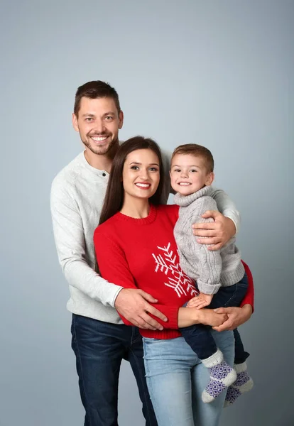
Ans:
{"label": "man's arm and hand wrapped around the boy's shoulder", "polygon": [[208,244],[209,251],[219,250],[229,241],[239,230],[240,215],[236,210],[234,202],[223,190],[214,189],[211,197],[217,202],[217,211],[208,211],[202,214],[207,219],[212,217],[214,222],[197,223],[192,226],[194,235],[198,237],[205,236],[205,240],[198,239],[200,244]]}

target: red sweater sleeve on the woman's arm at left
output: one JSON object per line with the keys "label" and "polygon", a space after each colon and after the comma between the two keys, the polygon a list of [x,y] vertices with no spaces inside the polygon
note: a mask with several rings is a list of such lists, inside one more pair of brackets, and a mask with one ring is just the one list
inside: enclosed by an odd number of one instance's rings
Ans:
{"label": "red sweater sleeve on the woman's arm at left", "polygon": [[[109,239],[109,236],[102,234],[102,232],[99,231],[99,226],[94,232],[94,247],[99,272],[104,278],[109,281],[114,281],[123,288],[139,288],[136,285],[134,277],[129,269],[124,250],[121,248],[121,246]],[[160,322],[164,328],[178,329],[179,307],[160,305],[158,303],[151,303],[150,305],[156,307],[156,309],[158,309],[165,315],[165,317],[168,318],[168,321],[164,322],[156,317],[156,320]],[[122,315],[120,316],[121,320],[124,321],[124,324],[134,325],[126,320],[126,318],[124,318]]]}

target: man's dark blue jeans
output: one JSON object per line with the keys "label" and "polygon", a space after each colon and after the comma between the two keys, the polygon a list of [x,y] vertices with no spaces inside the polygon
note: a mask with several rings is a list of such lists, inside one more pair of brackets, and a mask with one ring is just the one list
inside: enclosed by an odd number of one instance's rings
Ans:
{"label": "man's dark blue jeans", "polygon": [[[143,364],[143,344],[136,327],[72,315],[72,349],[77,362],[84,426],[117,426],[121,360],[131,364],[143,404],[146,426],[157,426]],[[130,408],[131,409],[131,408]]]}

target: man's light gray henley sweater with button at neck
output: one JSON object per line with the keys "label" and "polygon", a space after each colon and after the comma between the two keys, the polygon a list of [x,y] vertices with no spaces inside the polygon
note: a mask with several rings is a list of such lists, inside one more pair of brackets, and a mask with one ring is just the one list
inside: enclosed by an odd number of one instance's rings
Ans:
{"label": "man's light gray henley sweater with button at neck", "polygon": [[[165,187],[162,202],[170,192],[169,155],[163,153]],[[99,223],[109,174],[93,168],[80,153],[53,180],[50,207],[58,258],[67,283],[70,300],[67,309],[78,315],[114,324],[122,321],[114,308],[122,289],[94,271],[94,229]],[[239,213],[222,190],[214,190],[219,210],[239,227]]]}

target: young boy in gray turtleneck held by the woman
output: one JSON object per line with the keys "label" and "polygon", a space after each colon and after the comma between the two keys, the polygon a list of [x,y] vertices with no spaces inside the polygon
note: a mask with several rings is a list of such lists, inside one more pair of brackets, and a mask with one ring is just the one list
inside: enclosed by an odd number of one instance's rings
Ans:
{"label": "young boy in gray turtleneck held by the woman", "polygon": [[[231,239],[219,251],[209,251],[205,244],[197,243],[192,224],[205,222],[201,215],[207,210],[217,210],[217,204],[209,195],[214,180],[212,153],[204,146],[189,143],[175,148],[171,159],[170,179],[175,190],[175,204],[180,206],[175,224],[175,241],[178,245],[180,266],[197,282],[200,294],[187,304],[200,309],[239,306],[246,294],[248,282],[241,263],[241,255]],[[210,221],[209,221],[210,222]],[[247,373],[246,358],[237,329],[235,337],[234,368],[224,361],[209,331],[202,324],[180,329],[187,344],[209,368],[209,383],[202,393],[202,400],[210,403],[227,389],[226,403],[230,405],[241,393],[249,391],[253,381]],[[234,383],[234,385],[233,385]]]}

